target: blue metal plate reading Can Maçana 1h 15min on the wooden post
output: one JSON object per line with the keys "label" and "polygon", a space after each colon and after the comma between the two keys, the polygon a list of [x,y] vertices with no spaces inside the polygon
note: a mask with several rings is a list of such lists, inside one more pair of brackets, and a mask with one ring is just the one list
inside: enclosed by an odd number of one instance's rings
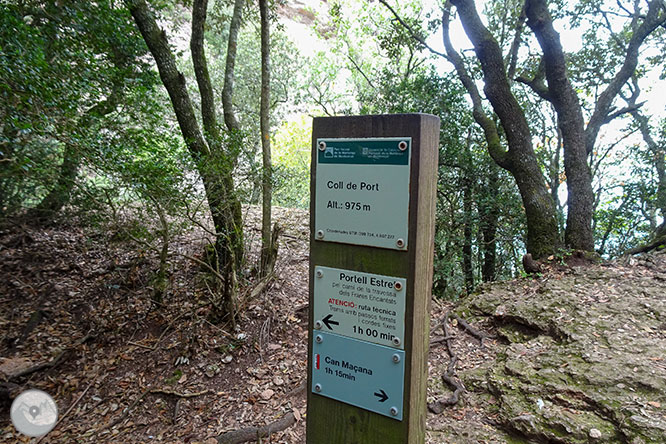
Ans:
{"label": "blue metal plate reading Can Ma\u00e7ana 1h 15min on the wooden post", "polygon": [[405,352],[315,332],[312,392],[402,420]]}

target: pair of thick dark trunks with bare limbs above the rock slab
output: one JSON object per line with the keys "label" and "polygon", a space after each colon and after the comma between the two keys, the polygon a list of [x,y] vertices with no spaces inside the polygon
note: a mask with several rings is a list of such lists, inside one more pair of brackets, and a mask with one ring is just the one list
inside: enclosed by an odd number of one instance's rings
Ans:
{"label": "pair of thick dark trunks with bare limbs above the rock slab", "polygon": [[[414,39],[432,53],[443,56],[415,33],[384,0],[380,0],[380,2],[395,15]],[[634,2],[635,11],[631,17],[630,32],[627,33],[629,40],[624,61],[606,89],[599,95],[590,121],[587,127],[584,127],[581,107],[566,75],[566,64],[559,35],[552,27],[547,4],[545,0],[526,0],[525,2],[523,12],[529,20],[528,25],[537,35],[544,51],[544,68],[549,87],[543,84],[541,77],[532,81],[522,81],[532,87],[541,98],[556,105],[558,126],[566,137],[564,163],[569,191],[566,243],[572,248],[588,251],[592,251],[594,248],[592,229],[594,193],[586,154],[592,152],[601,126],[615,117],[629,112],[627,109],[611,112],[613,101],[627,80],[634,74],[639,50],[645,39],[657,28],[666,24],[663,0],[648,0],[647,3],[648,9],[645,12],[640,2]],[[474,45],[484,75],[484,92],[504,128],[509,145],[508,151],[503,150],[499,132],[492,119],[485,114],[481,95],[474,79],[467,72],[463,59],[451,45],[449,38],[451,4],[456,6],[465,33]],[[515,70],[514,59],[515,54],[518,53],[522,19],[523,13],[521,12],[516,38],[508,61],[511,77]],[[511,172],[518,184],[527,216],[527,250],[535,259],[543,257],[548,253],[547,250],[554,251],[560,245],[555,200],[547,198],[544,193],[546,187],[543,175],[536,164],[527,121],[511,93],[502,51],[479,18],[474,0],[447,0],[442,9],[442,30],[446,57],[454,65],[458,77],[470,95],[474,119],[484,131],[488,151],[498,165]],[[610,30],[610,32],[613,31]],[[664,227],[666,229],[666,223]]]}

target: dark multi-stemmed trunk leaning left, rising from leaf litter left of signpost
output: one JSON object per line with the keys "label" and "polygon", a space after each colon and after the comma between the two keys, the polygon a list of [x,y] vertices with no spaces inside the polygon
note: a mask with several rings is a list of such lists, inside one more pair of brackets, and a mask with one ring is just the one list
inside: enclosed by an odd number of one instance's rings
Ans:
{"label": "dark multi-stemmed trunk leaning left, rising from leaf litter left of signpost", "polygon": [[[176,59],[164,31],[160,30],[154,16],[149,11],[145,0],[126,0],[141,35],[153,55],[157,68],[171,99],[178,125],[187,144],[188,150],[199,168],[199,173],[206,192],[208,207],[215,225],[218,266],[225,276],[223,299],[230,320],[235,322],[237,301],[237,272],[243,260],[242,217],[240,202],[234,192],[232,177],[234,159],[224,153],[221,136],[217,126],[213,104],[212,87],[208,76],[207,63],[203,49],[203,29],[206,20],[206,0],[196,0],[192,7],[192,60],[199,93],[202,96],[202,116],[206,137],[202,134],[194,113],[185,83],[185,77],[178,71]],[[236,6],[242,3],[236,2]],[[240,27],[240,11],[242,5],[234,7],[234,19],[237,28],[230,30],[230,41],[238,36]],[[235,49],[235,47],[234,47]],[[235,59],[235,51],[228,58]],[[233,78],[233,64],[231,64]],[[232,83],[225,84],[229,100],[232,97]],[[233,115],[233,112],[230,110]],[[227,109],[225,108],[225,117]],[[234,130],[237,128],[234,128]],[[234,139],[232,134],[231,139]],[[229,150],[229,152],[233,152]]]}

